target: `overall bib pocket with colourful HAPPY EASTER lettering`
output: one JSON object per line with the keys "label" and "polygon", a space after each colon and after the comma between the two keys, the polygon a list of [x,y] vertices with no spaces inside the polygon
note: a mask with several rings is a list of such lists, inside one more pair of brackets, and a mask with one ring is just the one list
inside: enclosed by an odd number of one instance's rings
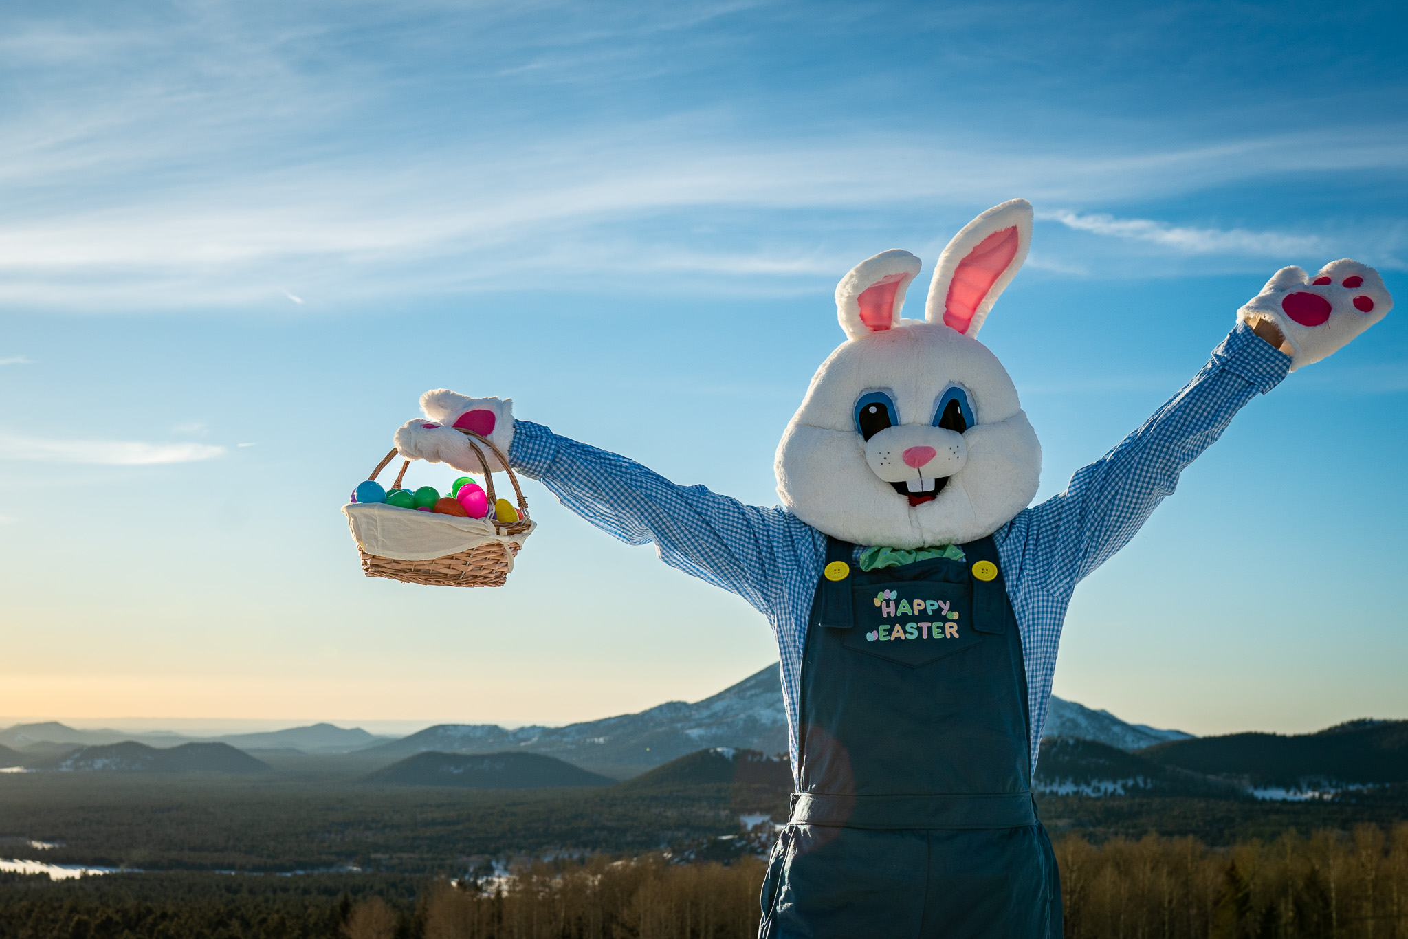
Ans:
{"label": "overall bib pocket with colourful HAPPY EASTER lettering", "polygon": [[983,643],[967,583],[898,580],[853,594],[855,625],[842,645],[911,669]]}

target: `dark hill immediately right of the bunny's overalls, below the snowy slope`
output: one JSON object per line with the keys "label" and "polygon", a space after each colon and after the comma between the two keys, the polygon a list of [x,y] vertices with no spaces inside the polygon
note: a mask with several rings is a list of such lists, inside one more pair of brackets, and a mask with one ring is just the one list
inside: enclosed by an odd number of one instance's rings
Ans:
{"label": "dark hill immediately right of the bunny's overalls, below the snowy slope", "polygon": [[1042,741],[1032,788],[1053,795],[1245,795],[1242,787],[1098,741]]}

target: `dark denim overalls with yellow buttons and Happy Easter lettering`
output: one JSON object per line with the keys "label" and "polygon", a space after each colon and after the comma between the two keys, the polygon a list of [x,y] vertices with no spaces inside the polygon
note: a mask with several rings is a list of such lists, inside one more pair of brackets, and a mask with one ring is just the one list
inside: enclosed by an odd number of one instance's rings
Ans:
{"label": "dark denim overalls with yellow buttons and Happy Easter lettering", "polygon": [[849,570],[812,601],[762,939],[1062,935],[1017,618],[993,539],[962,548],[862,572],[829,539],[828,570]]}

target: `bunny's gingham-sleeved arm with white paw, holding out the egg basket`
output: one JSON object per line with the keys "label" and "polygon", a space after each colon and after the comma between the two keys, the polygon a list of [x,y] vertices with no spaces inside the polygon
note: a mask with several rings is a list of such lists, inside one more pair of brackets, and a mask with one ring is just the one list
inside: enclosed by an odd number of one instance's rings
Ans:
{"label": "bunny's gingham-sleeved arm with white paw, holding out the egg basket", "polygon": [[653,542],[665,563],[739,594],[763,614],[780,595],[779,579],[800,563],[815,565],[824,550],[817,532],[790,512],[679,486],[635,460],[515,421],[510,400],[441,390],[422,396],[421,407],[431,420],[401,428],[404,453],[473,472],[477,458],[467,446],[459,452],[465,438],[451,428],[483,434],[515,472],[601,531],[629,545]]}

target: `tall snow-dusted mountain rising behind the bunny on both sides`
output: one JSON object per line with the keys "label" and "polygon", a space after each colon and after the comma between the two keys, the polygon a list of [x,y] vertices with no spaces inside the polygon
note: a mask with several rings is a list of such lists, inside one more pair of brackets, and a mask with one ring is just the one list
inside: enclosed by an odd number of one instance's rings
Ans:
{"label": "tall snow-dusted mountain rising behind the bunny on both sides", "polygon": [[[1136,749],[1190,736],[1125,724],[1108,711],[1052,698],[1048,736],[1080,736],[1121,749]],[[667,701],[638,714],[621,714],[567,726],[439,724],[418,733],[362,750],[366,756],[403,757],[427,750],[496,753],[528,750],[565,759],[615,777],[628,777],[708,748],[762,753],[787,750],[780,669],[770,664],[718,694],[689,704]]]}

